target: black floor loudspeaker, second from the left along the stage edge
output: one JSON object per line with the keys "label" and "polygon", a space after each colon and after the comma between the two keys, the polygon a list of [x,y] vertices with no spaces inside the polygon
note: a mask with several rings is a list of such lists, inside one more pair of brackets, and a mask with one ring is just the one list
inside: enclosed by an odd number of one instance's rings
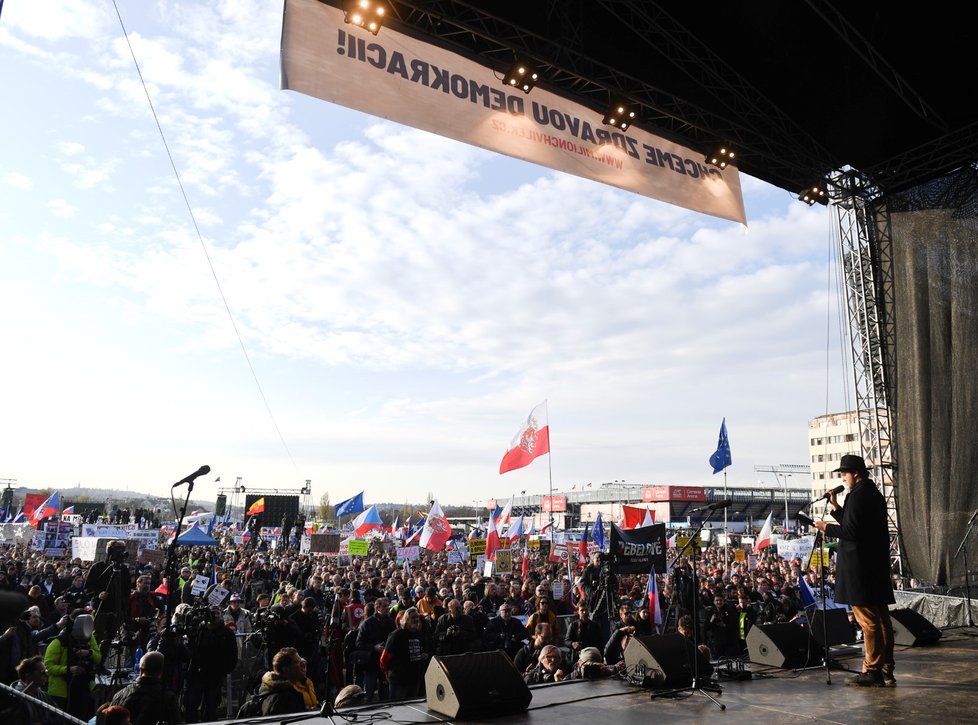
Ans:
{"label": "black floor loudspeaker, second from the left along the stage edge", "polygon": [[[703,680],[713,673],[709,658],[681,634],[632,637],[623,658],[629,676],[639,676],[644,669],[644,679],[655,687],[684,687],[694,674]],[[694,662],[698,673],[693,671]]]}

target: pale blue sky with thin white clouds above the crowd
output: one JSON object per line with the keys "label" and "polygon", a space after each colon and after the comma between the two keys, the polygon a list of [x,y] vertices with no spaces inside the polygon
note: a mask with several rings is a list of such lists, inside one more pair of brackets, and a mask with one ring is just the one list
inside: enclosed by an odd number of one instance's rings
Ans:
{"label": "pale blue sky with thin white clouds above the crowd", "polygon": [[[709,485],[726,417],[773,483],[847,407],[825,208],[743,176],[745,229],[279,90],[279,2],[118,7],[193,216],[112,2],[7,0],[0,478]],[[500,477],[543,400],[549,466]]]}

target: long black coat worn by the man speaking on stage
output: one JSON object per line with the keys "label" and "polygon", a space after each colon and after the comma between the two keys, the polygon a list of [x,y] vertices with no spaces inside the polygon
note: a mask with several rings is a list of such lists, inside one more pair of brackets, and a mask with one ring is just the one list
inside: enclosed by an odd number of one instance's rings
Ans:
{"label": "long black coat worn by the man speaking on stage", "polygon": [[883,494],[873,481],[859,481],[833,516],[839,523],[826,526],[825,533],[839,540],[835,601],[857,606],[892,604],[890,534]]}

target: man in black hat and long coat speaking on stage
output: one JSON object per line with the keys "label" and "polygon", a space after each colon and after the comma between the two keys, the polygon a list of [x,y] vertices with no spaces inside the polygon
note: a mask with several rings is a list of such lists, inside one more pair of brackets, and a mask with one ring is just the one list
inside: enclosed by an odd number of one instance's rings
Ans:
{"label": "man in black hat and long coat speaking on stage", "polygon": [[860,456],[845,455],[836,472],[845,484],[845,505],[834,491],[826,492],[832,515],[839,523],[815,522],[826,536],[839,540],[835,601],[848,604],[863,630],[862,673],[846,684],[858,687],[893,687],[893,624],[889,605],[894,602],[890,580],[890,533],[886,501],[869,477]]}

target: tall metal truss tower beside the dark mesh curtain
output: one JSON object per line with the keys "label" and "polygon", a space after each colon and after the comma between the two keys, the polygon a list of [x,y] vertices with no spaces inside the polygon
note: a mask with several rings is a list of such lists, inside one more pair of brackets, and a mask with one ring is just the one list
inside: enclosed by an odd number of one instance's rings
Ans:
{"label": "tall metal truss tower beside the dark mesh curtain", "polygon": [[896,371],[890,214],[879,190],[857,172],[838,173],[829,188],[840,231],[860,447],[886,500],[890,553],[903,577],[892,436]]}

